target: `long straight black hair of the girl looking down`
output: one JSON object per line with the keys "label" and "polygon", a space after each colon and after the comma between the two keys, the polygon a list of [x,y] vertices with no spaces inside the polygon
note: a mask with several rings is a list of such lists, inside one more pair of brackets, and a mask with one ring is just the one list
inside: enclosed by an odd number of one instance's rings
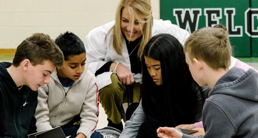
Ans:
{"label": "long straight black hair of the girl looking down", "polygon": [[[162,85],[153,82],[144,56],[160,61]],[[193,80],[183,47],[174,36],[158,34],[150,39],[142,55],[142,75],[142,107],[148,119],[168,127],[199,121],[194,116],[197,91],[202,88]]]}

